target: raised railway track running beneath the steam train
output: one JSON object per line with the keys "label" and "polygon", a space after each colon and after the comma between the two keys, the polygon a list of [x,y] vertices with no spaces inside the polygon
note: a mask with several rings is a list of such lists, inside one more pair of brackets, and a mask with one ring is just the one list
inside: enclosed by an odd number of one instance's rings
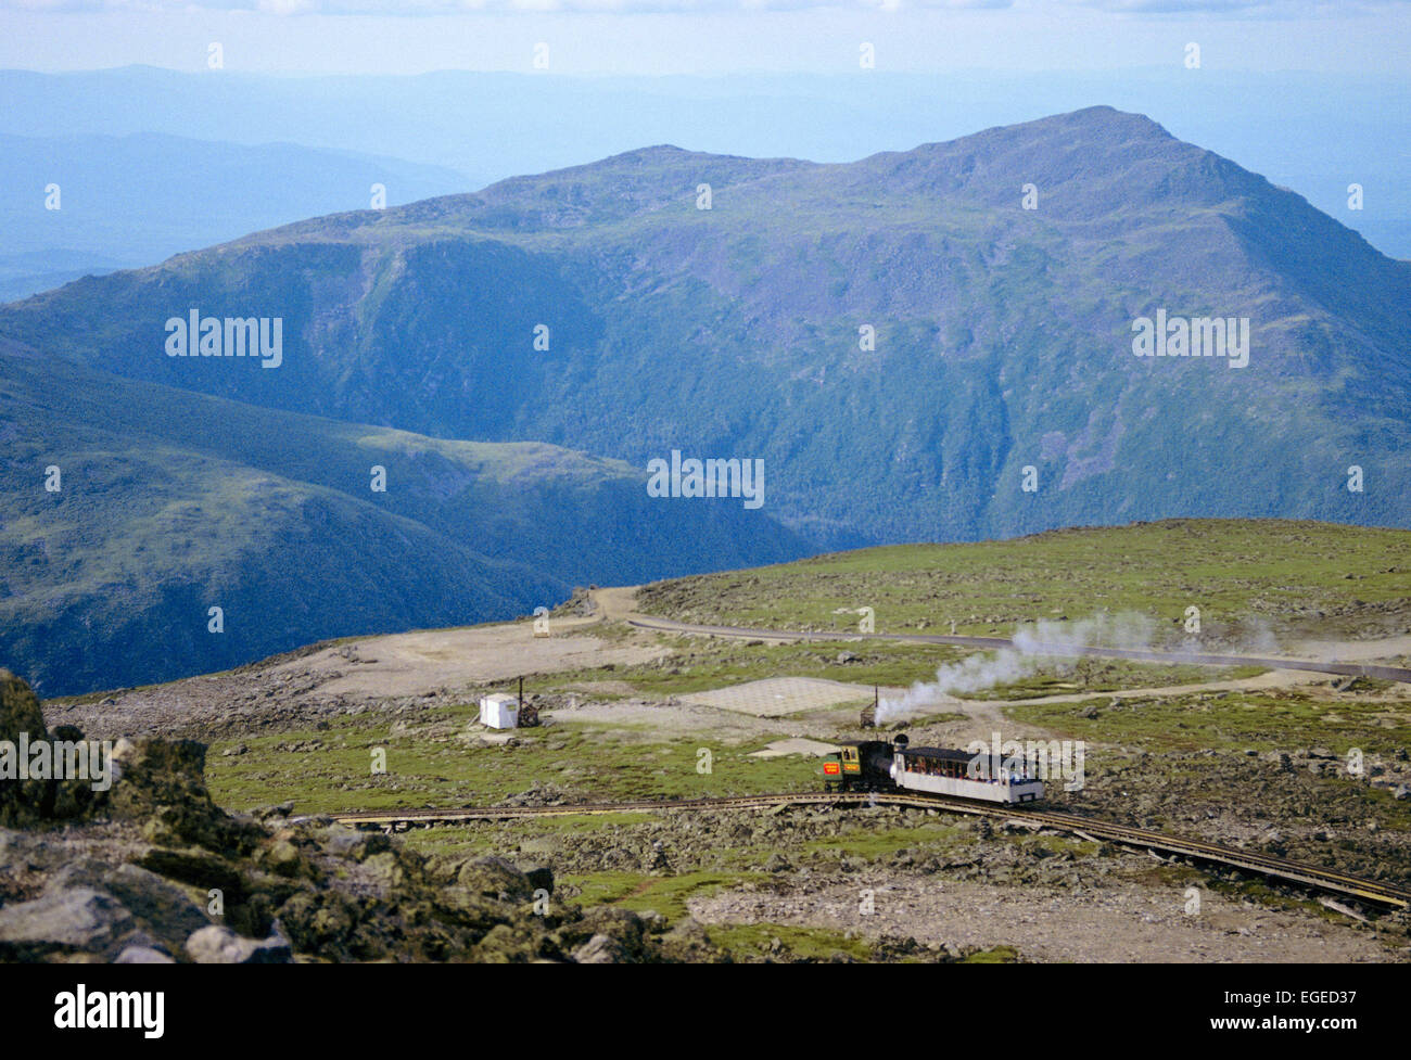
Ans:
{"label": "raised railway track running beneath the steam train", "polygon": [[1340,894],[1373,905],[1411,908],[1411,891],[1376,880],[1339,873],[1319,865],[1260,854],[1199,839],[1170,836],[1149,829],[1079,818],[1046,809],[998,806],[967,799],[920,796],[897,792],[780,792],[775,795],[737,795],[708,799],[646,799],[636,802],[591,802],[566,806],[480,806],[459,809],[398,809],[361,813],[334,813],[334,820],[358,827],[404,827],[454,825],[467,820],[515,820],[604,813],[646,813],[653,811],[773,809],[777,806],[906,806],[950,813],[1002,818],[1050,827],[1085,839],[1105,840],[1149,850],[1168,857],[1184,857],[1205,864],[1219,864],[1300,887]]}

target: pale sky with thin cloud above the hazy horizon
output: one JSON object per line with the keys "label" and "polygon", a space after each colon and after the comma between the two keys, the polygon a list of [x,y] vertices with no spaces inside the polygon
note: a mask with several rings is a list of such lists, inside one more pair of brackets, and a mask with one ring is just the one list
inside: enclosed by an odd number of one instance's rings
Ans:
{"label": "pale sky with thin cloud above the hazy horizon", "polygon": [[[570,75],[1202,69],[1405,75],[1411,0],[0,0],[0,68]],[[546,47],[543,47],[546,45]],[[536,58],[539,65],[536,65]]]}

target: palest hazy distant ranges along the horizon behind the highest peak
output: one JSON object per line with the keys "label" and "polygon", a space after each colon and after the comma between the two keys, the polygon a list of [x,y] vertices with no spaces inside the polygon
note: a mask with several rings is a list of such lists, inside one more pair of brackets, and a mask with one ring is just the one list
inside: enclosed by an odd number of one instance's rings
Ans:
{"label": "palest hazy distant ranges along the horizon behind the highest peak", "polygon": [[[1174,56],[1177,58],[1177,56]],[[845,56],[844,56],[845,59]],[[528,62],[528,52],[526,52]],[[1201,144],[1307,196],[1386,254],[1411,258],[1411,83],[1367,75],[1168,68],[1036,73],[982,69],[720,78],[584,78],[447,70],[418,76],[178,73],[131,66],[83,73],[0,70],[0,132],[24,137],[172,137],[288,141],[443,166],[474,190],[672,142],[731,155],[851,162],[991,125],[1092,104],[1158,116]],[[1364,209],[1348,209],[1348,185]],[[6,196],[14,189],[4,183]],[[394,202],[402,195],[388,183]],[[31,192],[21,196],[28,203]],[[233,237],[365,202],[353,189],[305,213],[248,217]],[[189,249],[190,247],[182,247]],[[131,264],[131,262],[128,262]],[[143,262],[150,264],[150,262]]]}

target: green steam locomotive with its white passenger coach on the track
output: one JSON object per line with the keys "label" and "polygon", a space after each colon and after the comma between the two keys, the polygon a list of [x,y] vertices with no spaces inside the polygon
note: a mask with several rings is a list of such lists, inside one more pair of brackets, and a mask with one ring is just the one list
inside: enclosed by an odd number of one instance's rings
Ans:
{"label": "green steam locomotive with its white passenger coach on the track", "polygon": [[916,791],[985,802],[1037,802],[1044,785],[1026,767],[950,747],[912,747],[906,736],[840,740],[823,760],[824,791]]}

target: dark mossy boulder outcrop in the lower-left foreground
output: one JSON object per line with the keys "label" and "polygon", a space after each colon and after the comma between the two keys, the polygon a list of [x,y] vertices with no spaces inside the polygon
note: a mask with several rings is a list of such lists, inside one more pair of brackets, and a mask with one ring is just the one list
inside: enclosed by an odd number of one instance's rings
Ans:
{"label": "dark mossy boulder outcrop in the lower-left foreground", "polygon": [[[0,670],[0,740],[49,733]],[[381,833],[229,815],[195,741],[120,740],[113,784],[0,779],[0,961],[708,961],[693,923],[566,906],[552,873]]]}

